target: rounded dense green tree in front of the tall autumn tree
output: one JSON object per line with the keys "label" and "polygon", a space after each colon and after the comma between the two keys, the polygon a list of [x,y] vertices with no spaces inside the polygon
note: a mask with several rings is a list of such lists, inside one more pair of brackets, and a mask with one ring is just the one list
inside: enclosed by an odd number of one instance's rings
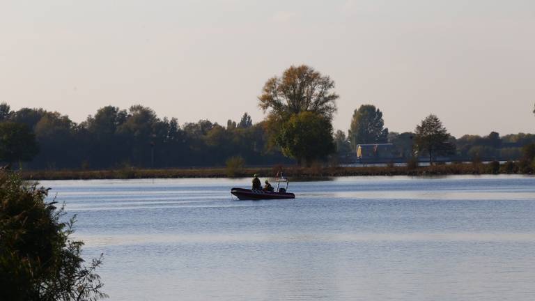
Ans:
{"label": "rounded dense green tree in front of the tall autumn tree", "polygon": [[304,111],[293,115],[277,137],[277,143],[284,155],[293,157],[298,164],[310,165],[314,160],[322,160],[335,151],[332,140],[332,125],[320,114]]}

